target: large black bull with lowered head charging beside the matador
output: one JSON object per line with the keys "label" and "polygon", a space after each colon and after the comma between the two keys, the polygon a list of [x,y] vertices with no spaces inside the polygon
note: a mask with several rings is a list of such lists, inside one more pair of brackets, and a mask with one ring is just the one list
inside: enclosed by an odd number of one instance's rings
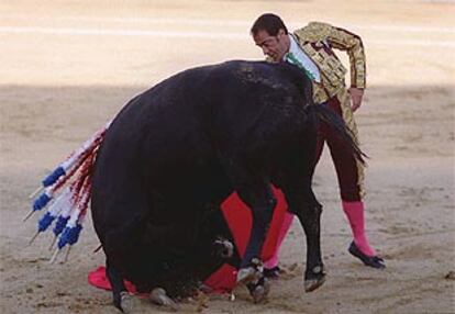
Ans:
{"label": "large black bull with lowered head charging beside the matador", "polygon": [[342,120],[311,94],[295,66],[228,61],[177,74],[124,106],[99,149],[91,201],[116,306],[122,279],[149,291],[171,282],[177,265],[180,281],[201,258],[211,270],[220,265],[208,247],[217,236],[229,238],[218,209],[233,191],[253,214],[237,265],[237,280],[252,280],[276,204],[271,184],[307,236],[306,290],[323,282],[322,206],[311,189],[318,121],[337,127],[357,158],[362,153]]}

